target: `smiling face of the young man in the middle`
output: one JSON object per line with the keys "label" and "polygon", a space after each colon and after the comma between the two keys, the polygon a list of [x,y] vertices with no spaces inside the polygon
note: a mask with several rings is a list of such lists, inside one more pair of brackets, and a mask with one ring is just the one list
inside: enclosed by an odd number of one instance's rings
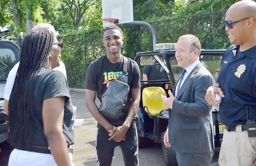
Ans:
{"label": "smiling face of the young man in the middle", "polygon": [[103,45],[106,48],[107,55],[121,55],[123,41],[123,35],[117,29],[108,29],[103,33]]}

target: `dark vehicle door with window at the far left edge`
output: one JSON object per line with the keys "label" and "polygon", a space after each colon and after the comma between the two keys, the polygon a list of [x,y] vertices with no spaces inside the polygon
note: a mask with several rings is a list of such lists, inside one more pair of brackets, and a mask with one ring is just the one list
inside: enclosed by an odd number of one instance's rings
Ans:
{"label": "dark vehicle door with window at the far left edge", "polygon": [[19,60],[20,48],[13,41],[0,40],[0,106],[3,106],[8,73]]}

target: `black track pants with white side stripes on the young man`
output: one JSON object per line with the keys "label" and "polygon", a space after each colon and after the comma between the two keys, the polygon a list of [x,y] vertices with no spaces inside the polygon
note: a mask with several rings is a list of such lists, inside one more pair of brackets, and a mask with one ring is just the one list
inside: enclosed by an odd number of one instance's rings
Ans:
{"label": "black track pants with white side stripes on the young man", "polygon": [[125,141],[116,142],[108,141],[110,136],[102,126],[98,125],[95,141],[96,153],[98,161],[96,166],[111,166],[114,149],[120,146],[125,166],[139,166],[138,160],[138,137],[135,122],[131,123],[130,128],[126,133]]}

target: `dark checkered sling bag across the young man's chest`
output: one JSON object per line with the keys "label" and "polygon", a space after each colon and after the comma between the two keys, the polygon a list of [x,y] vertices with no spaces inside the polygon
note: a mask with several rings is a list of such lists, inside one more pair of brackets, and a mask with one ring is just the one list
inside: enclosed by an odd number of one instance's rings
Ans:
{"label": "dark checkered sling bag across the young man's chest", "polygon": [[121,117],[123,106],[125,106],[125,101],[130,90],[130,86],[128,85],[127,70],[128,58],[123,56],[123,73],[120,74],[116,80],[110,80],[108,82],[106,85],[106,90],[101,98],[99,112],[102,115],[114,120]]}

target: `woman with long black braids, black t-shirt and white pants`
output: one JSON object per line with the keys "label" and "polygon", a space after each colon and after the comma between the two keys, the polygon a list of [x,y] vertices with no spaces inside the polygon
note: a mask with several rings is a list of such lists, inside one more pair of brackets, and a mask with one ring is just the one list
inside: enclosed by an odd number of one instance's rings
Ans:
{"label": "woman with long black braids, black t-shirt and white pants", "polygon": [[57,44],[48,30],[32,30],[23,40],[8,103],[8,141],[15,148],[8,166],[72,165],[73,106],[65,76],[49,62],[50,51],[60,53]]}

